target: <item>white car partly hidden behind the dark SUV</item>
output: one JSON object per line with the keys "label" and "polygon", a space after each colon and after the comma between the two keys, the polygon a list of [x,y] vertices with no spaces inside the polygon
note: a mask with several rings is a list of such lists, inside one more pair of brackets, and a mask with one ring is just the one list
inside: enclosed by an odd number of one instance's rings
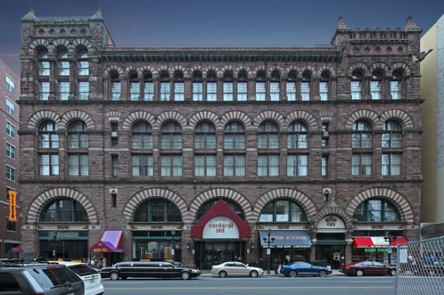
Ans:
{"label": "white car partly hidden behind the dark SUV", "polygon": [[76,275],[78,275],[84,282],[84,295],[103,294],[102,277],[94,268],[87,265],[87,263],[71,262],[71,261],[54,261],[66,265]]}

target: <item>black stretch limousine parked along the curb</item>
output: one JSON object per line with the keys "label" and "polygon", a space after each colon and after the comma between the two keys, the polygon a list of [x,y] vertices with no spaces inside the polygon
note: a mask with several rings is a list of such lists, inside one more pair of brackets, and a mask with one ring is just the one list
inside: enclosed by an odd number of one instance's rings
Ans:
{"label": "black stretch limousine parked along the curb", "polygon": [[127,277],[181,277],[189,280],[191,277],[201,275],[201,270],[189,267],[179,267],[167,261],[125,261],[115,263],[110,268],[100,270],[101,277],[111,280],[122,280]]}

